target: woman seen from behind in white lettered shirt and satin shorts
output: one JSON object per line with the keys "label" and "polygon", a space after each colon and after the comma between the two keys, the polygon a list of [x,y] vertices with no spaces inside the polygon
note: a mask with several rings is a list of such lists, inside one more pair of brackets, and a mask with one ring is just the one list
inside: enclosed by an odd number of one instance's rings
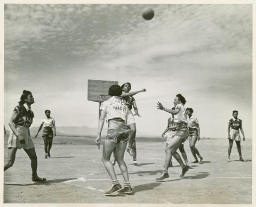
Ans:
{"label": "woman seen from behind in white lettered shirt and satin shorts", "polygon": [[[122,94],[122,88],[118,85],[110,86],[108,95],[111,96],[100,106],[100,120],[98,126],[98,136],[95,139],[97,145],[100,144],[101,131],[105,122],[108,122],[108,132],[103,144],[102,162],[112,180],[111,189],[105,193],[106,196],[116,192],[129,194],[132,188],[129,181],[127,166],[124,162],[124,152],[129,140],[130,129],[126,126],[127,106],[119,97]],[[115,158],[124,178],[124,188],[117,180],[115,169],[110,162],[110,156],[116,149]]]}

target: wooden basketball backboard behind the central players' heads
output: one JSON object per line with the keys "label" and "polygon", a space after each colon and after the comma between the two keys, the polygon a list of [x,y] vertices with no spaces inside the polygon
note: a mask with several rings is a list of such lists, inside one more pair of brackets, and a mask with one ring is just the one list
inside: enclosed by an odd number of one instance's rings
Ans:
{"label": "wooden basketball backboard behind the central players' heads", "polygon": [[101,95],[108,95],[108,89],[112,85],[118,85],[118,81],[90,80],[88,79],[88,101],[101,102]]}

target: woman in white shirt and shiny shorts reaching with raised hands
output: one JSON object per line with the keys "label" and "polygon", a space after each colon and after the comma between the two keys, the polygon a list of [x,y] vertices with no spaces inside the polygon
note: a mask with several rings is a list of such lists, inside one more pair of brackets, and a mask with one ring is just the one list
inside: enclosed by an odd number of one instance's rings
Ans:
{"label": "woman in white shirt and shiny shorts reaching with raised hands", "polygon": [[180,177],[183,177],[189,170],[189,166],[183,163],[180,155],[177,153],[178,148],[183,142],[186,141],[189,135],[189,129],[187,127],[187,113],[184,107],[186,99],[181,94],[177,94],[173,103],[175,106],[175,110],[166,109],[160,102],[157,103],[157,109],[166,111],[174,115],[174,122],[177,123],[178,127],[177,133],[173,136],[170,144],[166,147],[164,170],[162,175],[159,178],[156,178],[156,181],[162,181],[166,178],[169,178],[168,168],[171,161],[171,155],[174,156],[175,160],[177,160],[180,164],[180,167],[182,169]]}

